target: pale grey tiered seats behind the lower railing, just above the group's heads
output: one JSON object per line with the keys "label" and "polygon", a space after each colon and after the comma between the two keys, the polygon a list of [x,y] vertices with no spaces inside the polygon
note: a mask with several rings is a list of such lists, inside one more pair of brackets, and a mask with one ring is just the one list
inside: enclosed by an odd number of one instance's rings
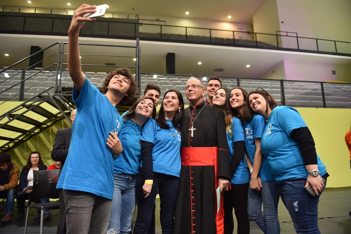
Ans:
{"label": "pale grey tiered seats behind the lower railing, just above the group's heads", "polygon": [[[26,70],[25,78],[37,73],[38,70]],[[55,70],[47,70],[32,76],[24,82],[24,98],[28,99],[33,95],[38,94],[51,86],[55,86]],[[18,74],[17,74],[18,73]],[[1,90],[15,85],[15,87],[0,94],[1,100],[7,100],[10,97],[20,92],[21,70],[7,70],[8,76],[0,74],[0,87]],[[17,74],[17,75],[16,75]],[[97,87],[102,86],[102,82],[106,77],[105,72],[85,72],[84,73],[90,82]],[[141,75],[141,91],[148,83],[154,83],[160,86],[162,94],[160,101],[163,99],[164,91],[176,89],[183,94],[184,103],[188,104],[185,97],[184,86],[189,76],[176,76],[176,75],[154,75],[142,74]],[[198,77],[206,83],[208,77]],[[7,79],[7,80],[6,80]],[[61,77],[62,87],[73,87],[73,82],[67,70],[62,71]],[[269,92],[279,105],[282,105],[282,89],[281,81],[278,80],[257,80],[257,79],[244,79],[244,78],[221,78],[223,87],[234,88],[238,86],[244,88],[248,92],[256,90],[258,87],[263,88]],[[320,82],[303,82],[303,81],[283,81],[285,104],[294,107],[323,107],[323,95]],[[323,83],[326,106],[351,108],[351,84],[343,83]],[[53,94],[53,89],[50,91]],[[18,100],[19,96],[12,100]]]}

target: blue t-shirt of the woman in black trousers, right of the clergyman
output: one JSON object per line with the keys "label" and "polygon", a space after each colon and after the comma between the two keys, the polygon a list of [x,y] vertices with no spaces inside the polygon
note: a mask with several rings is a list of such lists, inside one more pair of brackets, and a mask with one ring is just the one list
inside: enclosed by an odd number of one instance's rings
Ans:
{"label": "blue t-shirt of the woman in black trousers, right of the clergyman", "polygon": [[[230,152],[230,160],[232,160],[232,156],[234,153],[234,145],[233,143],[236,141],[244,141],[244,130],[243,125],[241,125],[241,121],[237,118],[233,118],[233,126],[232,126],[232,137],[230,137],[229,133],[227,133],[227,140]],[[231,184],[245,184],[250,181],[250,173],[247,170],[247,164],[245,160],[245,156],[241,159],[241,162],[235,171],[232,179],[230,180]]]}

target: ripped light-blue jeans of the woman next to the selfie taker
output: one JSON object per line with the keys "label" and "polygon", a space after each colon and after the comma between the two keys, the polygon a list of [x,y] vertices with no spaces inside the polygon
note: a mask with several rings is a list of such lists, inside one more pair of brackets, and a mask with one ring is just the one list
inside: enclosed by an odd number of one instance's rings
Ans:
{"label": "ripped light-blue jeans of the woman next to the selfie taker", "polygon": [[135,209],[136,181],[137,175],[114,174],[113,200],[107,232],[110,229],[121,234],[130,232]]}

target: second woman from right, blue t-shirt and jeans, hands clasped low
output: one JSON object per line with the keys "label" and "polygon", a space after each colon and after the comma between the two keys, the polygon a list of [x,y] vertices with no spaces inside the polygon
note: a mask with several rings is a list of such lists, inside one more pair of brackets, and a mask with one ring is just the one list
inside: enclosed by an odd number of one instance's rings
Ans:
{"label": "second woman from right, blue t-shirt and jeans, hands clasped low", "polygon": [[[250,188],[247,194],[247,211],[264,233],[280,233],[278,220],[278,185],[260,150],[266,120],[249,107],[247,92],[240,87],[231,91],[234,115],[244,121],[246,164],[250,170]],[[263,212],[262,212],[263,203]]]}

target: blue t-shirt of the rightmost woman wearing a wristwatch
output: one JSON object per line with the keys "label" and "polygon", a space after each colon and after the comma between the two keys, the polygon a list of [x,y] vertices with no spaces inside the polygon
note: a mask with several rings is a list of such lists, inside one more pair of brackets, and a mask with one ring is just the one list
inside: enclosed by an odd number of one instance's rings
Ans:
{"label": "blue t-shirt of the rightmost woman wearing a wristwatch", "polygon": [[[275,107],[268,118],[265,133],[261,138],[261,151],[267,157],[277,183],[307,178],[299,146],[290,138],[291,131],[300,127],[307,125],[300,113],[292,107]],[[326,169],[318,155],[317,164],[320,175],[324,175]]]}

